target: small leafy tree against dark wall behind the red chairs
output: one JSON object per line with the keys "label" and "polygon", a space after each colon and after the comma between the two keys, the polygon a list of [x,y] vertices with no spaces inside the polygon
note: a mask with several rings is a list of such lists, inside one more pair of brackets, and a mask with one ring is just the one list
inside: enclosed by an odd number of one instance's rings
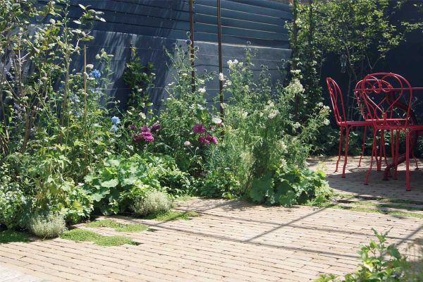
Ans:
{"label": "small leafy tree against dark wall behind the red chairs", "polygon": [[[293,24],[290,25],[291,42],[298,42],[293,46],[293,65],[302,71],[302,82],[309,84],[303,107],[321,97],[321,87],[315,87],[316,78],[319,79],[317,70],[329,54],[345,59],[349,104],[353,83],[374,71],[388,51],[405,41],[405,33],[418,27],[406,22],[393,23],[393,13],[402,4],[403,1],[390,4],[388,0],[339,0],[295,5],[298,32],[293,32]],[[348,112],[350,116],[350,107]]]}

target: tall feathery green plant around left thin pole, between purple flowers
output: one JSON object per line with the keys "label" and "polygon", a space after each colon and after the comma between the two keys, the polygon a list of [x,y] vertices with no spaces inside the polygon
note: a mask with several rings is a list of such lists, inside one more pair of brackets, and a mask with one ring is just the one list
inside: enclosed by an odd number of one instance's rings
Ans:
{"label": "tall feathery green plant around left thin pole, between purple flowers", "polygon": [[[195,49],[195,54],[197,49]],[[197,73],[195,91],[192,91],[190,45],[175,47],[168,56],[171,59],[173,82],[167,87],[168,98],[164,101],[166,111],[161,111],[158,119],[163,126],[159,137],[159,152],[170,154],[182,171],[199,176],[203,171],[204,154],[212,146],[202,146],[199,135],[192,132],[195,124],[202,124],[209,135],[219,135],[221,120],[213,116],[205,99],[205,82],[212,80],[212,73]]]}

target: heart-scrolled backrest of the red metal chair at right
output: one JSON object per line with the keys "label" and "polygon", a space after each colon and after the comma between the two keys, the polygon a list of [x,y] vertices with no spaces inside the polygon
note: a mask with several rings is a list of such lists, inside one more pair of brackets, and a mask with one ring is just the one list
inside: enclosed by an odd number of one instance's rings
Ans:
{"label": "heart-scrolled backrest of the red metal chair at right", "polygon": [[[401,75],[372,73],[357,83],[356,89],[365,104],[362,114],[366,120],[372,120],[375,126],[408,125],[412,87]],[[398,104],[405,104],[405,109],[398,107]]]}

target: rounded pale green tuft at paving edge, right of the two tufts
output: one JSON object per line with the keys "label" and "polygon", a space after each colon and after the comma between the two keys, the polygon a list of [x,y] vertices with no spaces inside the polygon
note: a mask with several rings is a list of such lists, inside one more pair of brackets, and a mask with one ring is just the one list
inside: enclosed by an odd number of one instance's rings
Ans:
{"label": "rounded pale green tuft at paving edge, right of the two tufts", "polygon": [[167,212],[171,205],[171,200],[165,192],[149,191],[144,198],[135,200],[131,209],[135,214],[147,216],[148,214]]}

